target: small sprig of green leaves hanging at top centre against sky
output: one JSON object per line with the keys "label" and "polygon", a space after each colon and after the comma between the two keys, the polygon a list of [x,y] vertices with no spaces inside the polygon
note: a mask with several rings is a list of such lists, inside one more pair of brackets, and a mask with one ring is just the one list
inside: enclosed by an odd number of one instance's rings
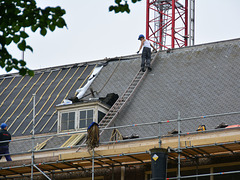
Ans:
{"label": "small sprig of green leaves hanging at top centre against sky", "polygon": [[[138,1],[141,1],[141,0],[131,0],[132,3],[136,3]],[[130,13],[130,9],[129,9],[129,5],[128,5],[128,2],[127,0],[115,0],[115,4],[116,5],[112,5],[109,7],[109,11],[114,11],[115,13],[124,13],[124,12],[127,12],[127,13]]]}

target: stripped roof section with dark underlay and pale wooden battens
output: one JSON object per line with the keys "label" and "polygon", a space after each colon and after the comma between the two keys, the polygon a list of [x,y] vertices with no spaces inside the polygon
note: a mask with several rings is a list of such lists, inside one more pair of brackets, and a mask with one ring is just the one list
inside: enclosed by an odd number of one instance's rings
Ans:
{"label": "stripped roof section with dark underlay and pale wooden battens", "polygon": [[13,136],[32,130],[32,95],[36,94],[35,133],[56,132],[54,106],[75,95],[96,64],[75,64],[36,71],[34,77],[16,74],[0,76],[0,123],[6,122]]}

